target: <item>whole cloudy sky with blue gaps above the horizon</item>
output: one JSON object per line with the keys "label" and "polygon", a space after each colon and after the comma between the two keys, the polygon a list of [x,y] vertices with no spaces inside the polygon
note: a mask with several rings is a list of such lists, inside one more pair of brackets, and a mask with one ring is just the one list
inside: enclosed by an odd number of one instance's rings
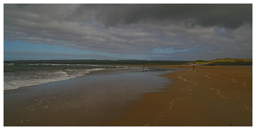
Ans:
{"label": "whole cloudy sky with blue gaps above the horizon", "polygon": [[4,4],[4,60],[252,58],[252,4]]}

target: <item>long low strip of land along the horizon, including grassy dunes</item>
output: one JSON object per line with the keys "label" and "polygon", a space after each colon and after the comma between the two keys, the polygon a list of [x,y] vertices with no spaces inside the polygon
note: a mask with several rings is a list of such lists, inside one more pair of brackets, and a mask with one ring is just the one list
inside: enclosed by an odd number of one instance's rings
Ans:
{"label": "long low strip of land along the horizon, including grassy dunes", "polygon": [[[27,64],[94,64],[94,65],[219,65],[237,64],[245,66],[252,65],[252,59],[239,59],[239,58],[225,58],[215,59],[211,61],[168,61],[168,60],[17,60],[17,61],[4,61],[5,63],[27,63]],[[243,66],[244,66],[243,65]],[[232,66],[232,65],[231,65]]]}

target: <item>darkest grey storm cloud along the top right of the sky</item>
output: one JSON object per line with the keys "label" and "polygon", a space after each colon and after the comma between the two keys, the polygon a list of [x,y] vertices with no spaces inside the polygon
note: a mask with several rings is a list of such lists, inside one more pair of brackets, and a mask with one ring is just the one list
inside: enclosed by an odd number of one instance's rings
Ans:
{"label": "darkest grey storm cloud along the top right of the sky", "polygon": [[252,24],[252,4],[83,4],[74,16],[94,11],[106,26],[132,24],[140,20],[185,20],[187,28],[220,26],[236,29]]}

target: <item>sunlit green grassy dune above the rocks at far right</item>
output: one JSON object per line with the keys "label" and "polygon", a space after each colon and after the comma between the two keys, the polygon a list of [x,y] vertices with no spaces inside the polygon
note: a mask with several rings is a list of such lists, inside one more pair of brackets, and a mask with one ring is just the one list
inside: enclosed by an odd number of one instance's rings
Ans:
{"label": "sunlit green grassy dune above the rocks at far right", "polygon": [[189,62],[187,64],[208,64],[208,63],[250,63],[252,59],[239,59],[239,58],[225,58],[225,59],[215,59],[211,61],[196,60],[194,62]]}

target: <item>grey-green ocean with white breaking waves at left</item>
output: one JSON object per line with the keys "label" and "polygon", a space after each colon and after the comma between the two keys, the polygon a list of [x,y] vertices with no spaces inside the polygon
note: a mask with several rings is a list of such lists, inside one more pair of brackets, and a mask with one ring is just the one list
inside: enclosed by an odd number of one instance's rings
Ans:
{"label": "grey-green ocean with white breaking waves at left", "polygon": [[[151,69],[149,69],[151,68]],[[172,71],[160,67],[82,64],[4,64],[4,90],[61,81],[99,71]]]}

